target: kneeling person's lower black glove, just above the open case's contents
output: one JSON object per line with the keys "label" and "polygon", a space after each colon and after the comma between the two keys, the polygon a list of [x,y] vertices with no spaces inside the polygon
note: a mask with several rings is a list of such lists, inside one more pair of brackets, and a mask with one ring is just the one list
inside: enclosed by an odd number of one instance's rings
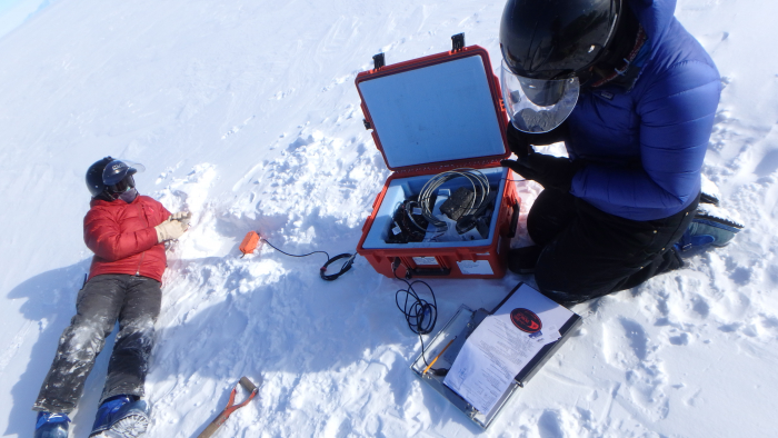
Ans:
{"label": "kneeling person's lower black glove, just above the open case's contents", "polygon": [[570,191],[572,177],[581,167],[568,158],[543,153],[530,153],[526,157],[520,157],[516,161],[502,160],[500,165],[512,169],[525,177],[525,179],[538,181],[546,189],[556,189],[563,192]]}

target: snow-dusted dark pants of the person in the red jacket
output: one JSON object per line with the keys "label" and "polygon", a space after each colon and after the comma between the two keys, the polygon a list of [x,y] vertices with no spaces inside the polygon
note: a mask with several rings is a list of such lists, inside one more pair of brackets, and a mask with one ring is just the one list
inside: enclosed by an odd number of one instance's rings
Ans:
{"label": "snow-dusted dark pants of the person in the red jacket", "polygon": [[76,299],[76,316],[59,340],[33,410],[68,414],[83,392],[94,359],[119,320],[100,402],[120,394],[143,396],[159,316],[160,282],[123,273],[90,279]]}

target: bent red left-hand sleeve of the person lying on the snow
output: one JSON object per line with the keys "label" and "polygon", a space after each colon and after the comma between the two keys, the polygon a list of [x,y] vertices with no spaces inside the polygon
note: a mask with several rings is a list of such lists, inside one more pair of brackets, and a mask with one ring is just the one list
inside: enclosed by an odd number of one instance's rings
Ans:
{"label": "bent red left-hand sleeve of the person lying on the snow", "polygon": [[120,232],[119,223],[100,210],[90,210],[83,219],[83,240],[96,256],[109,261],[134,256],[158,243],[154,227]]}

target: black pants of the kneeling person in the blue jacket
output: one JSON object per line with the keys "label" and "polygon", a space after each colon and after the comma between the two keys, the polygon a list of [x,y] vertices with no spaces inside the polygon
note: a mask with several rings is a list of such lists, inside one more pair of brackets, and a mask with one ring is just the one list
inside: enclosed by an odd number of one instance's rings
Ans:
{"label": "black pants of the kneeling person in the blue jacket", "polygon": [[694,218],[699,197],[668,218],[637,221],[609,215],[558,190],[543,190],[527,217],[542,247],[538,288],[559,302],[581,302],[634,288],[684,266],[672,246]]}

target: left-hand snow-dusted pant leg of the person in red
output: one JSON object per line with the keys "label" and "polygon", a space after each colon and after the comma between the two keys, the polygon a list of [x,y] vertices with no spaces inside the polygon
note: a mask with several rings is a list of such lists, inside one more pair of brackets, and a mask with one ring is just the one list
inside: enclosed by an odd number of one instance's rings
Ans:
{"label": "left-hand snow-dusted pant leg of the person in red", "polygon": [[51,369],[43,380],[33,410],[70,412],[81,398],[94,359],[113,330],[124,299],[126,275],[90,279],[76,299],[76,316],[59,340]]}

